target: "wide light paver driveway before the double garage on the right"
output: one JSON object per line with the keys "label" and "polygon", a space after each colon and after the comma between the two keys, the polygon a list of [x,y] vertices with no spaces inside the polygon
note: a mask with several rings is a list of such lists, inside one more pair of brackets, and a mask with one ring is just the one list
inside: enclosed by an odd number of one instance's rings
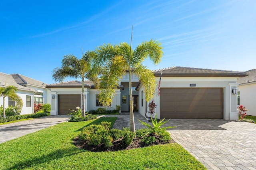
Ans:
{"label": "wide light paver driveway before the double garage on the right", "polygon": [[220,119],[170,120],[172,138],[212,170],[256,170],[256,124]]}

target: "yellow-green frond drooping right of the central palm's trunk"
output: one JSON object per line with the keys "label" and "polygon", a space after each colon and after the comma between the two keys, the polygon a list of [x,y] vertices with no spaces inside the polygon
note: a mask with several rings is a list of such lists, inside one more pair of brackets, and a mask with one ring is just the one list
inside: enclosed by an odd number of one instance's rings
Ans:
{"label": "yellow-green frond drooping right of the central palm's trunk", "polygon": [[150,69],[140,65],[133,71],[138,75],[141,84],[144,86],[144,93],[146,95],[146,101],[149,102],[153,97],[156,89],[155,76]]}

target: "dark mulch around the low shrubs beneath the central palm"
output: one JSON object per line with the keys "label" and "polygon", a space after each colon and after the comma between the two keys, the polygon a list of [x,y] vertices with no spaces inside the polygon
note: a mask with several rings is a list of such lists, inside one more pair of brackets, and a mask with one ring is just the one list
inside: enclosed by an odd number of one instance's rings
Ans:
{"label": "dark mulch around the low shrubs beneath the central palm", "polygon": [[[91,146],[86,142],[85,140],[81,140],[78,136],[74,138],[73,144],[80,148],[80,149],[85,149],[85,150],[90,150],[92,152],[105,152],[105,151],[117,151],[117,150],[130,150],[130,149],[135,149],[135,148],[142,148],[145,146],[152,146],[152,145],[158,145],[158,144],[164,144],[159,140],[157,136],[156,137],[156,142],[152,143],[151,145],[145,145],[141,139],[142,138],[136,138],[133,139],[132,143],[127,146],[124,144],[121,140],[122,138],[116,140],[113,142],[113,145],[110,148],[106,148],[104,144],[101,144],[99,146]],[[174,140],[170,140],[169,143],[176,143]]]}

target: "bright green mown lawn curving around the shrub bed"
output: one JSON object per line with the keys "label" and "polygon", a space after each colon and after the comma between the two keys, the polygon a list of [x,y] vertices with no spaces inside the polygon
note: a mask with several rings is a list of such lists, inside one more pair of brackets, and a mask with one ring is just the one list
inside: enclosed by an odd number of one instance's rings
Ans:
{"label": "bright green mown lawn curving around the shrub bed", "polygon": [[179,144],[164,144],[117,152],[89,152],[72,139],[83,127],[110,121],[102,117],[86,122],[55,125],[0,144],[0,169],[206,169]]}

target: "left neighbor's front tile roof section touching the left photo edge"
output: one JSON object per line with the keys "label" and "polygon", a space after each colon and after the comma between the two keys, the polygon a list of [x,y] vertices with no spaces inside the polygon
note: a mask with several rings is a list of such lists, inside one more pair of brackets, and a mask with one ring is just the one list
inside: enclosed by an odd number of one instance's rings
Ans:
{"label": "left neighbor's front tile roof section touching the left photo edge", "polygon": [[22,86],[14,80],[12,75],[6,74],[6,73],[0,73],[0,87],[10,86],[13,85],[18,90],[25,90],[25,91],[35,91],[34,89],[31,89],[30,87]]}

